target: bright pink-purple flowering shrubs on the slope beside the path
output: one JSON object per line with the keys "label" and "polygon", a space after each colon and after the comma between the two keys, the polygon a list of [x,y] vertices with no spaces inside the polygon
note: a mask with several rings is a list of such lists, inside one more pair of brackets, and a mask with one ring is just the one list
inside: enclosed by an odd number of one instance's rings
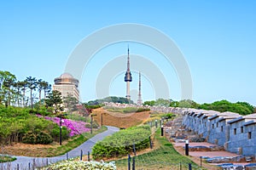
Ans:
{"label": "bright pink-purple flowering shrubs on the slope beside the path", "polygon": [[90,128],[85,127],[86,122],[82,121],[73,121],[70,119],[60,119],[60,117],[49,117],[49,116],[39,116],[38,117],[44,117],[44,119],[53,121],[57,123],[60,126],[60,121],[62,120],[61,125],[64,127],[67,127],[68,130],[70,130],[69,135],[74,136],[81,133],[86,133],[90,131]]}

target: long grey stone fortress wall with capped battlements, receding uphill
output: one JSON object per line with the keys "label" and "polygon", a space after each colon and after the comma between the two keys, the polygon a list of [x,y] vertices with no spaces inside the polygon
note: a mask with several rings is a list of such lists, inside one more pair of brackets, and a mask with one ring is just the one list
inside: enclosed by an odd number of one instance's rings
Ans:
{"label": "long grey stone fortress wall with capped battlements, receding uphill", "polygon": [[183,116],[183,126],[195,131],[207,142],[242,156],[256,156],[256,113],[241,116],[226,111],[204,111],[190,108],[105,103],[119,108],[143,107],[151,111],[172,112]]}

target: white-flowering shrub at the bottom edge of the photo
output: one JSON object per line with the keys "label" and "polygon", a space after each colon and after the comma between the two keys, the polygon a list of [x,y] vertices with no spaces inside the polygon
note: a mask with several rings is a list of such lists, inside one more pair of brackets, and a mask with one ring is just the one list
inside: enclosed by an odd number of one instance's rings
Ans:
{"label": "white-flowering shrub at the bottom edge of the photo", "polygon": [[50,165],[49,167],[44,167],[43,170],[95,170],[95,169],[102,169],[102,170],[116,170],[115,163],[113,161],[106,163],[104,161],[74,161],[74,160],[67,160],[67,161],[59,161],[55,164]]}

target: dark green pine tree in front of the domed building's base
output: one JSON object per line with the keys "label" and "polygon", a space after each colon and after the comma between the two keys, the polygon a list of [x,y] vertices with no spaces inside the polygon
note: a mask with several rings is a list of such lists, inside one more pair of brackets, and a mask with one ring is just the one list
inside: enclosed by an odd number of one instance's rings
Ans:
{"label": "dark green pine tree in front of the domed building's base", "polygon": [[54,113],[57,114],[58,111],[63,111],[61,92],[53,90],[45,99],[46,106],[53,106],[55,108]]}

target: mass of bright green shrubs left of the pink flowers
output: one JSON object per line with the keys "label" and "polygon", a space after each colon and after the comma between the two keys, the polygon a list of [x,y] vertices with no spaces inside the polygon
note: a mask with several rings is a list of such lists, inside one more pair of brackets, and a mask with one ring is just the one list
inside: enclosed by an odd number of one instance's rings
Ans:
{"label": "mass of bright green shrubs left of the pink flowers", "polygon": [[[47,110],[43,106],[38,111],[45,111],[45,114],[47,114]],[[35,113],[38,112],[32,109],[12,106],[7,108],[0,107],[0,143],[11,144],[13,142],[22,142],[36,144],[37,137],[35,135],[42,134],[42,139],[38,139],[41,141],[39,143],[49,144],[51,139],[42,132],[48,133],[52,139],[59,141],[60,127],[55,122],[35,116]],[[63,127],[62,139],[68,138],[69,132],[67,131],[67,127]]]}

